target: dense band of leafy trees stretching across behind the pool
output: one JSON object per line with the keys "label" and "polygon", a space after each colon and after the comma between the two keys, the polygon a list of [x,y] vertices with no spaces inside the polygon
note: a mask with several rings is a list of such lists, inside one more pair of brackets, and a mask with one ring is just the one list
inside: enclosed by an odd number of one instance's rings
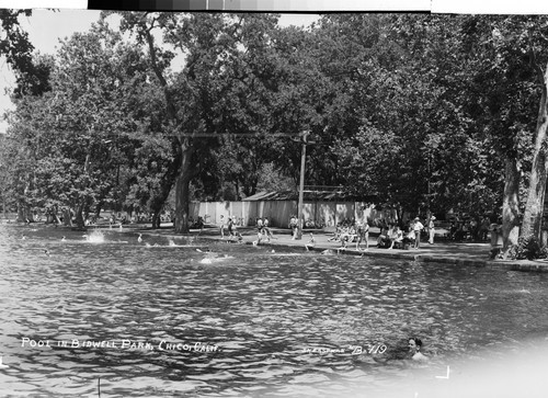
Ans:
{"label": "dense band of leafy trees stretching across behind the pool", "polygon": [[71,208],[80,225],[104,208],[140,209],[159,226],[171,194],[184,232],[191,200],[295,189],[308,130],[308,185],[412,213],[502,215],[505,249],[520,229],[540,238],[546,16],[277,20],[105,13],[55,56],[20,66],[13,57],[32,46],[8,41],[18,87],[3,201],[22,214]]}

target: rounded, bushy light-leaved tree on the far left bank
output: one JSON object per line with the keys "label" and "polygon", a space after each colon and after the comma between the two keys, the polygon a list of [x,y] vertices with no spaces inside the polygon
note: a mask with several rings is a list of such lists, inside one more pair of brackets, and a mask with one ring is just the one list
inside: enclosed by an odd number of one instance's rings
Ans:
{"label": "rounded, bushy light-leaved tree on the far left bank", "polygon": [[62,43],[49,78],[52,90],[15,98],[10,134],[27,150],[24,197],[53,213],[72,209],[79,228],[93,204],[122,201],[119,170],[135,149],[139,126],[135,86],[147,66],[134,46],[104,24]]}

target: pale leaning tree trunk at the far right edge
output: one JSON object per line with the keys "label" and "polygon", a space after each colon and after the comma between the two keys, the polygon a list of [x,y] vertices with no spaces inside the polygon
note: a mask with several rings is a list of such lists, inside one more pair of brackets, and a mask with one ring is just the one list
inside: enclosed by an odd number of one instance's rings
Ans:
{"label": "pale leaning tree trunk at the far right edge", "polygon": [[548,168],[548,157],[546,153],[546,130],[548,127],[548,65],[543,76],[543,95],[538,110],[535,151],[533,153],[533,166],[529,178],[529,189],[527,193],[527,203],[522,224],[522,236],[533,236],[540,240],[540,227],[543,223],[545,193],[546,193],[546,171]]}

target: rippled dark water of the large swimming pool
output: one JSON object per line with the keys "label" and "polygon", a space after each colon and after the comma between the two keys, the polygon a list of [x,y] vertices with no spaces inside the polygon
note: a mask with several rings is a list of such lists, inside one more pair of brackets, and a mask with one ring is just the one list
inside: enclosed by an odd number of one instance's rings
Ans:
{"label": "rippled dark water of the large swimming pool", "polygon": [[413,397],[548,331],[545,274],[69,234],[0,225],[2,393]]}

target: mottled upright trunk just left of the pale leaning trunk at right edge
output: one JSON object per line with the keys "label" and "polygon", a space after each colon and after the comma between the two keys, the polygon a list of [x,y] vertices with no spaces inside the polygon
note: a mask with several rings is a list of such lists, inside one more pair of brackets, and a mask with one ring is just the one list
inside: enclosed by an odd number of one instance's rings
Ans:
{"label": "mottled upright trunk just left of the pale leaning trunk at right edge", "polygon": [[506,159],[502,202],[502,250],[517,245],[520,235],[520,170],[516,159]]}

